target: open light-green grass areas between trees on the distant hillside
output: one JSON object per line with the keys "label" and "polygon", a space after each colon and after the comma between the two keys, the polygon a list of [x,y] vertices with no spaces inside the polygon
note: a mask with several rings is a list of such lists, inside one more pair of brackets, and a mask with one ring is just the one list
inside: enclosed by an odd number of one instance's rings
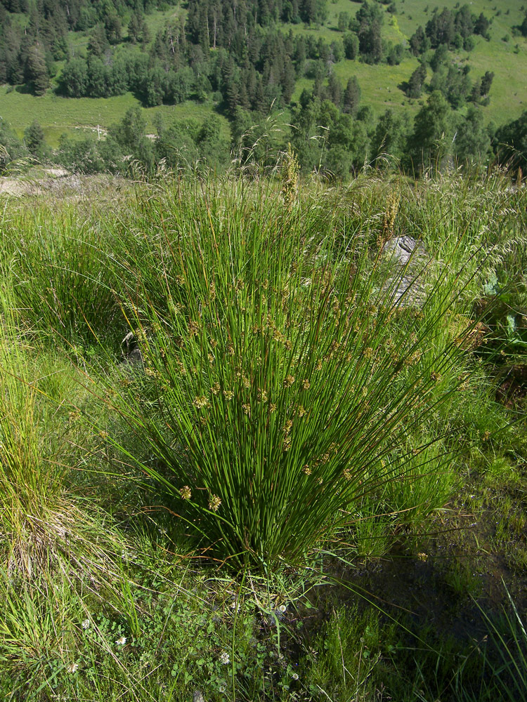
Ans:
{"label": "open light-green grass areas between trees on the distant hillside", "polygon": [[[444,0],[440,4],[455,10],[459,6],[454,0]],[[312,37],[323,37],[326,41],[334,41],[342,36],[338,31],[339,13],[346,12],[353,16],[360,4],[349,0],[338,0],[327,4],[327,20],[324,25],[308,27],[307,25],[281,25],[285,32],[306,34]],[[405,44],[418,25],[426,25],[434,8],[432,4],[420,0],[397,0],[397,13],[385,13],[382,36],[393,43]],[[488,0],[475,0],[470,4],[471,12],[483,12],[492,20],[490,25],[490,41],[474,37],[475,47],[470,53],[460,52],[455,56],[459,63],[468,62],[471,66],[471,79],[481,77],[487,70],[495,73],[493,86],[490,91],[490,104],[483,107],[486,121],[501,124],[505,119],[514,119],[527,107],[527,39],[513,36],[514,25],[519,25],[523,11],[516,0],[503,0],[493,4]],[[180,6],[168,11],[155,11],[147,15],[146,21],[150,29],[152,41],[156,32],[168,20],[186,15],[186,8]],[[18,15],[21,22],[27,18]],[[70,33],[70,51],[72,54],[86,51],[88,42],[87,32]],[[60,63],[58,64],[60,70]],[[422,104],[420,101],[409,100],[398,86],[408,80],[412,71],[417,67],[415,58],[407,57],[400,65],[366,65],[356,61],[343,60],[334,66],[334,72],[346,84],[349,77],[358,78],[362,90],[362,105],[371,105],[375,113],[381,114],[387,107],[396,110],[405,109],[415,114]],[[293,99],[297,99],[301,89],[311,86],[313,81],[302,78],[297,81]],[[426,100],[426,94],[422,98]],[[121,95],[106,100],[58,98],[51,91],[41,98],[30,94],[20,94],[17,90],[8,91],[0,87],[0,116],[10,122],[19,135],[22,135],[33,119],[37,119],[44,128],[44,133],[51,146],[56,146],[60,133],[79,133],[86,129],[92,130],[97,125],[103,128],[117,121],[128,107],[138,105],[133,95]],[[196,117],[204,119],[215,105],[209,102],[205,105],[185,103],[174,107],[154,107],[144,111],[148,124],[156,112],[161,111],[167,117]],[[224,130],[227,133],[226,125]]]}

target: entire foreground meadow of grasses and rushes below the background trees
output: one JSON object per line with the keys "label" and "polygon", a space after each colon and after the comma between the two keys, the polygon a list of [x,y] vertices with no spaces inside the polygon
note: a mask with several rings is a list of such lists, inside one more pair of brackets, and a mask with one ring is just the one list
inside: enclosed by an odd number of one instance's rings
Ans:
{"label": "entire foreground meadow of grasses and rushes below the background trees", "polygon": [[0,695],[526,699],[527,190],[254,175],[1,196]]}

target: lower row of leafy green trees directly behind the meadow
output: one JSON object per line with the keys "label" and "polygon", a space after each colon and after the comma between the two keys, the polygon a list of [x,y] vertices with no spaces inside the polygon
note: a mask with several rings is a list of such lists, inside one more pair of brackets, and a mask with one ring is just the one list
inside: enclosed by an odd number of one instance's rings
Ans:
{"label": "lower row of leafy green trees directly behind the meadow", "polygon": [[[360,100],[360,96],[359,96]],[[318,171],[347,179],[363,166],[398,170],[417,176],[424,169],[447,166],[505,164],[527,169],[527,111],[497,128],[485,126],[481,108],[471,105],[464,116],[452,110],[440,91],[434,91],[413,120],[408,114],[386,110],[374,118],[369,106],[343,112],[327,97],[304,91],[292,112],[290,133],[277,138],[268,119],[242,107],[230,122],[230,138],[221,131],[219,117],[202,124],[158,114],[155,134],[148,134],[140,108],[126,112],[105,138],[63,136],[55,152],[46,146],[44,132],[34,122],[19,140],[0,122],[0,173],[15,159],[34,157],[62,164],[79,173],[153,173],[160,166],[221,172],[233,159],[239,164],[275,166],[287,143],[297,154],[302,171]]]}

